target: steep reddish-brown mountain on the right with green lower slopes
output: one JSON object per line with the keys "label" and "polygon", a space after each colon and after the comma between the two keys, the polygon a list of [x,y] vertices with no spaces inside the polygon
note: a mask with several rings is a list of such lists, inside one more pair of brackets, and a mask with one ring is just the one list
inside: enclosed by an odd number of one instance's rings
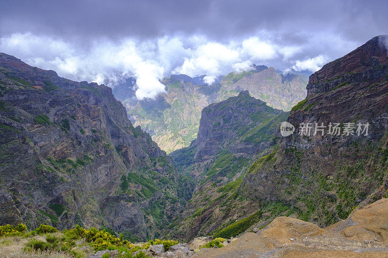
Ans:
{"label": "steep reddish-brown mountain on the right with green lower slopes", "polygon": [[[281,137],[280,128],[274,127],[273,137],[278,140],[268,150],[271,153],[255,157],[242,177],[225,185],[208,182],[211,186],[200,179],[182,220],[172,223],[169,234],[230,238],[253,227],[263,228],[279,215],[326,227],[346,219],[355,209],[388,197],[386,40],[387,36],[375,37],[311,75],[307,98],[294,106],[286,119],[296,131]],[[316,123],[326,127],[317,128],[323,131],[314,134]],[[311,133],[299,135],[307,124]],[[334,125],[340,135],[333,133]],[[212,153],[218,139],[213,135],[207,143],[207,137],[202,137],[208,135],[210,125],[207,127],[197,138],[205,139],[205,144],[195,141],[195,145],[209,146],[203,150]],[[361,131],[357,133],[358,127]],[[262,139],[260,134],[254,135]],[[187,173],[198,164],[196,153],[193,149],[178,156],[178,161],[194,156],[191,163],[178,166],[181,171]],[[215,164],[224,166],[224,162]],[[215,168],[216,173],[222,171]]]}

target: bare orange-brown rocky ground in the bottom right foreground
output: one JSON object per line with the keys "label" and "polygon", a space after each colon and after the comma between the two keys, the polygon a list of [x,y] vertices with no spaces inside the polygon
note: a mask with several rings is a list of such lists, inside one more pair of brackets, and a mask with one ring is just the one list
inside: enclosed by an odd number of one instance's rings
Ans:
{"label": "bare orange-brown rocky ground in the bottom right foreground", "polygon": [[[374,213],[376,212],[376,213]],[[245,233],[225,247],[204,248],[193,258],[215,257],[377,257],[388,256],[388,199],[354,212],[328,228],[289,217],[278,217],[258,233]],[[349,223],[349,220],[353,220]],[[377,222],[378,221],[378,222]],[[377,225],[374,223],[377,222]],[[382,234],[369,234],[371,228]],[[356,231],[355,231],[355,228]],[[350,233],[352,232],[352,233]],[[374,233],[377,233],[374,231]]]}

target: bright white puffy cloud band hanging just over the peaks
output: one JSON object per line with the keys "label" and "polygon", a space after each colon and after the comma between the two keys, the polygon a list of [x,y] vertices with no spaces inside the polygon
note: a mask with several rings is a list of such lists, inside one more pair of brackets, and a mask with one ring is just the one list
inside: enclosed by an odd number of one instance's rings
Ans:
{"label": "bright white puffy cloud band hanging just over the peaks", "polygon": [[345,54],[348,46],[340,37],[322,33],[307,37],[298,46],[275,44],[268,33],[257,35],[223,43],[210,41],[203,35],[176,35],[144,41],[99,38],[77,45],[48,36],[14,33],[0,38],[0,51],[78,81],[114,87],[124,78],[134,76],[136,96],[143,99],[164,92],[160,80],[171,74],[206,75],[204,81],[211,84],[220,75],[249,70],[253,63],[271,64],[283,71],[292,67],[296,71],[314,72],[329,60],[321,54],[325,49],[335,48]]}

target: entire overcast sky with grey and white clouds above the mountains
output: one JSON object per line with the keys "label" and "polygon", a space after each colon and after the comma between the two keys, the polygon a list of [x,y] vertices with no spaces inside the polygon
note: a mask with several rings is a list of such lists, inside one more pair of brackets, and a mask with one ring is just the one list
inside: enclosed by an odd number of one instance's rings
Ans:
{"label": "entire overcast sky with grey and white clouds above the mountains", "polygon": [[74,80],[208,83],[252,63],[313,73],[388,33],[388,1],[0,0],[0,52]]}

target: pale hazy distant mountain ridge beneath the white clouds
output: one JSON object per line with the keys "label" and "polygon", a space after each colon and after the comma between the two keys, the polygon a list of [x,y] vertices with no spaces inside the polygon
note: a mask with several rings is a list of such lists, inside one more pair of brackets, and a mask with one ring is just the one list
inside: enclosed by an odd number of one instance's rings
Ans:
{"label": "pale hazy distant mountain ridge beneath the white clouds", "polygon": [[[136,126],[146,130],[162,150],[170,153],[189,146],[196,138],[201,111],[211,103],[247,90],[269,106],[290,110],[306,96],[306,74],[284,76],[265,65],[254,65],[253,69],[240,73],[232,72],[218,78],[212,85],[204,84],[203,77],[172,75],[162,80],[167,93],[156,99],[136,100],[134,95],[126,98],[123,104],[128,117]],[[128,88],[120,85],[120,89],[123,87]],[[120,95],[115,96],[121,100]]]}

